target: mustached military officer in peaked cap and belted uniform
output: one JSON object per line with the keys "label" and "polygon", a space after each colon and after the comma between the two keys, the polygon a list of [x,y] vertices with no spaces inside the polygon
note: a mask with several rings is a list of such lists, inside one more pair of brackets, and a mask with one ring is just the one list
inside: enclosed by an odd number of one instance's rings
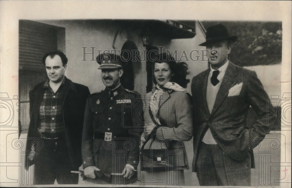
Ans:
{"label": "mustached military officer in peaked cap and belted uniform", "polygon": [[136,171],[140,156],[140,133],[144,124],[139,119],[143,117],[143,112],[137,109],[143,103],[138,93],[124,89],[120,83],[126,64],[121,56],[100,54],[97,62],[106,88],[88,97],[82,159],[86,177],[95,179],[96,171],[101,171],[103,176],[98,178],[105,177],[102,183],[108,183],[113,173],[129,179]]}

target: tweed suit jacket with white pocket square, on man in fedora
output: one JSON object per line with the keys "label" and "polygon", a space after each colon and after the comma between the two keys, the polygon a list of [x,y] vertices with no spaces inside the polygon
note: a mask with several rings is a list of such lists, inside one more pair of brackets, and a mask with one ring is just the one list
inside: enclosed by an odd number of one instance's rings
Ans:
{"label": "tweed suit jacket with white pocket square, on man in fedora", "polygon": [[[210,128],[211,133],[232,159],[242,161],[256,147],[249,141],[262,141],[276,120],[273,109],[267,110],[269,99],[256,72],[236,66],[229,62],[210,114],[206,102],[206,88],[210,68],[192,79],[192,103],[194,114],[194,157],[192,171],[196,172],[196,161],[200,142]],[[230,88],[242,83],[239,95],[228,96]],[[258,115],[252,128],[246,126],[248,108],[252,107]],[[254,160],[254,159],[252,159]]]}

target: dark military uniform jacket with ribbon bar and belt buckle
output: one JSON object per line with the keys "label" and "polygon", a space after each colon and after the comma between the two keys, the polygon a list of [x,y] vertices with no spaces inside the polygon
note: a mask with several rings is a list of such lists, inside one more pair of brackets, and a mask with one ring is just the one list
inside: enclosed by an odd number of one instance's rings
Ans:
{"label": "dark military uniform jacket with ribbon bar and belt buckle", "polygon": [[[138,94],[121,85],[88,97],[82,139],[83,168],[96,166],[105,174],[113,168],[121,173],[126,163],[136,168],[144,124],[142,106]],[[106,133],[111,134],[110,141],[105,141]]]}

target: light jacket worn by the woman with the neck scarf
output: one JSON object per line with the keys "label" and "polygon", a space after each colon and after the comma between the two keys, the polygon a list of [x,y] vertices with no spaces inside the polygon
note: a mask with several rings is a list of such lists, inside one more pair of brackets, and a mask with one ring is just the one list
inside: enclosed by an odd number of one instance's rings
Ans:
{"label": "light jacket worn by the woman with the neck scarf", "polygon": [[[149,114],[150,100],[153,92],[145,95],[145,109],[144,109],[144,120],[145,126],[151,122]],[[167,126],[160,127],[157,129],[157,134],[153,139],[150,139],[144,149],[157,149],[157,140],[166,140],[169,143],[169,150],[180,152],[179,155],[179,169],[188,169],[187,153],[184,147],[178,148],[178,142],[189,141],[193,136],[192,126],[192,107],[190,97],[182,91],[167,90],[163,93],[163,97],[159,100],[159,120],[163,121]],[[162,132],[162,134],[160,134]],[[181,142],[181,144],[183,144]],[[186,148],[187,149],[187,148]]]}

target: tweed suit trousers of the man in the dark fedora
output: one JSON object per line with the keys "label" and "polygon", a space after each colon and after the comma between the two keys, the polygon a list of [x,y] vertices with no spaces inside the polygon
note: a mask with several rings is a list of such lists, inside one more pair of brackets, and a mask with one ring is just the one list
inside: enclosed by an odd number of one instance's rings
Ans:
{"label": "tweed suit trousers of the man in the dark fedora", "polygon": [[219,145],[201,142],[196,163],[200,186],[251,186],[251,156],[248,156],[236,161]]}

